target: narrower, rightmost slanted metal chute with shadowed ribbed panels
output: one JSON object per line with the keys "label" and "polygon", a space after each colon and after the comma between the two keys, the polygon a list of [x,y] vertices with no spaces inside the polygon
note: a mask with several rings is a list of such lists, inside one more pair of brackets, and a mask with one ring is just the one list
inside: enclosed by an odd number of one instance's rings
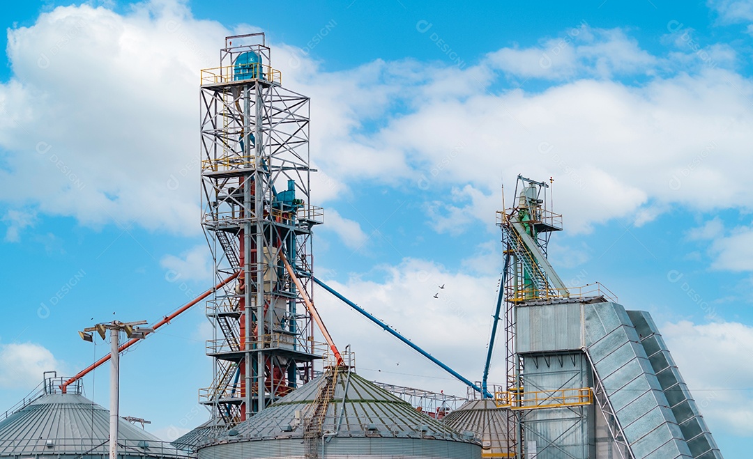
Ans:
{"label": "narrower, rightmost slanted metal chute with shadowed ribbed panels", "polygon": [[628,311],[627,315],[635,326],[651,368],[657,375],[657,382],[668,406],[672,409],[681,436],[687,442],[692,457],[721,458],[721,451],[706,427],[706,421],[703,420],[695,400],[687,390],[687,385],[651,315],[645,311]]}

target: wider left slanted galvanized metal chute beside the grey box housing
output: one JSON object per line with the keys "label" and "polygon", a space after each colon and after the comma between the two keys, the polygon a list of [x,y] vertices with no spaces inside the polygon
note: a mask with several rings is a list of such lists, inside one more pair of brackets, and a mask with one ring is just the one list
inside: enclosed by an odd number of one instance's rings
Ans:
{"label": "wider left slanted galvanized metal chute beside the grey box housing", "polygon": [[[625,309],[614,302],[587,304],[584,318],[587,352],[594,371],[602,380],[610,403],[614,397],[622,406],[616,410],[617,420],[636,458],[659,448],[668,451],[666,457],[692,457],[674,413],[667,408],[668,402],[641,337]],[[645,384],[639,384],[637,379]],[[630,385],[649,389],[630,400],[626,390]],[[675,451],[677,454],[673,455]]]}

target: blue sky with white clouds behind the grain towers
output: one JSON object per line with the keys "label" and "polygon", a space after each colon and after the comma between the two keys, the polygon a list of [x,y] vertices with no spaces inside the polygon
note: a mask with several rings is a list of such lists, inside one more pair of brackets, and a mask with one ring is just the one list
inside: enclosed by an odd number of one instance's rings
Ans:
{"label": "blue sky with white clouds behind the grain towers", "polygon": [[[199,71],[225,35],[264,30],[285,86],[312,97],[319,277],[479,379],[501,187],[509,203],[517,174],[553,177],[561,277],[651,312],[722,451],[747,457],[753,3],[219,3],[4,7],[0,406],[105,353],[76,330],[157,321],[212,284]],[[316,301],[365,377],[465,393]],[[209,335],[197,306],[130,351],[123,414],[163,437],[203,421]],[[107,381],[85,381],[105,406]]]}

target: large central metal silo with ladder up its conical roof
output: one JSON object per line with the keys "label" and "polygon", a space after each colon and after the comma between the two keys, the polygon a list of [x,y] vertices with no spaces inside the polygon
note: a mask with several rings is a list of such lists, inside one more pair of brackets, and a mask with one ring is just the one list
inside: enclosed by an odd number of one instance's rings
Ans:
{"label": "large central metal silo with ladder up its conical roof", "polygon": [[199,459],[424,457],[474,459],[481,447],[346,366],[203,445]]}

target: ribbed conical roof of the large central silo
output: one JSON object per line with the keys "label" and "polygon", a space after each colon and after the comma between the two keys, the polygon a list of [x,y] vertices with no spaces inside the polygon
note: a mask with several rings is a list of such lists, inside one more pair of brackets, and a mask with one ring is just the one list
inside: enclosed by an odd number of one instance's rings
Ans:
{"label": "ribbed conical roof of the large central silo", "polygon": [[[281,436],[302,438],[303,421],[309,415],[322,384],[325,384],[324,375],[215,440],[275,439]],[[341,372],[338,375],[322,432],[336,433],[340,438],[389,437],[475,442],[472,436],[463,436],[452,427],[417,411],[410,403],[361,378],[355,372]]]}

